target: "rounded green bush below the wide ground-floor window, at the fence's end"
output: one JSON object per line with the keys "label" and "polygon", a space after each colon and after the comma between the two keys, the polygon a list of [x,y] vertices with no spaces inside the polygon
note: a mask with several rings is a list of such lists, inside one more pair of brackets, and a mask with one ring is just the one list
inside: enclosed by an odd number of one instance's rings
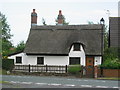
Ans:
{"label": "rounded green bush below the wide ground-floor window, at the fence's end", "polygon": [[70,74],[79,74],[81,71],[81,66],[80,65],[74,65],[74,66],[69,66],[68,68],[68,73]]}

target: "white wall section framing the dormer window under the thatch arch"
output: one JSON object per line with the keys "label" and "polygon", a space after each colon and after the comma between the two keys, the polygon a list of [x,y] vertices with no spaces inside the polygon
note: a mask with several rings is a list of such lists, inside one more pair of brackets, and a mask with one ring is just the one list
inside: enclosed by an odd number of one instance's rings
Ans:
{"label": "white wall section framing the dormer window under the thatch arch", "polygon": [[80,45],[80,48],[81,48],[80,51],[74,51],[73,46],[72,46],[70,53],[69,53],[69,57],[80,57],[81,58],[80,64],[85,66],[85,61],[86,61],[85,52],[84,52],[82,45]]}

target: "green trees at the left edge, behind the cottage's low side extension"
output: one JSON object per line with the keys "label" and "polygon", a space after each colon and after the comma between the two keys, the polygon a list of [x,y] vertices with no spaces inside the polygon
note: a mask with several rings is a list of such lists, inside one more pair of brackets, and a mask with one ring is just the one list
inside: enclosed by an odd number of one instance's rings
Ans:
{"label": "green trees at the left edge, behind the cottage's low side extension", "polygon": [[2,53],[0,55],[2,55],[3,59],[7,59],[7,55],[22,51],[25,48],[24,41],[21,41],[16,47],[13,46],[10,41],[13,35],[10,34],[10,31],[7,18],[0,12],[0,33],[2,33],[2,38],[0,38],[0,43],[2,43]]}

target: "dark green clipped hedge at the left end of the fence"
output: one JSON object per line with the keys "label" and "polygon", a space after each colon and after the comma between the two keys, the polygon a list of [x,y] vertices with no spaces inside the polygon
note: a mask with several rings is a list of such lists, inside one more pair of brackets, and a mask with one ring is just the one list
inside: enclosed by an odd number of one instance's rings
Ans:
{"label": "dark green clipped hedge at the left end of the fence", "polygon": [[2,69],[11,71],[14,67],[13,59],[3,59],[2,60]]}

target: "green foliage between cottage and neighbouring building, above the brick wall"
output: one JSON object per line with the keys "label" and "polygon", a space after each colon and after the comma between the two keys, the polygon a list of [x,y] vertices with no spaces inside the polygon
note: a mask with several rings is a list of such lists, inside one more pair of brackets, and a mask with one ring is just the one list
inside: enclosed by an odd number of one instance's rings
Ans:
{"label": "green foliage between cottage and neighbouring building, above the brick wall", "polygon": [[120,48],[118,47],[108,47],[109,33],[107,26],[104,27],[104,55],[103,64],[101,68],[106,69],[120,69],[120,58],[118,57],[120,53],[118,52]]}

